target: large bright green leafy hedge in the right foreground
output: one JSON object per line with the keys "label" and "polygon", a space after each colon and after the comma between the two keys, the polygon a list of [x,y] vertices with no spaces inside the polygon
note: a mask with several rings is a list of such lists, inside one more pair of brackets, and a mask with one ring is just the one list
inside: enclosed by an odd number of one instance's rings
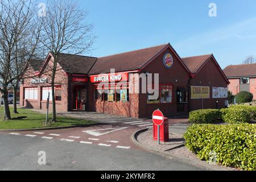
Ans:
{"label": "large bright green leafy hedge in the right foreground", "polygon": [[256,170],[256,125],[192,125],[184,138],[201,160],[209,161],[216,154],[218,164]]}

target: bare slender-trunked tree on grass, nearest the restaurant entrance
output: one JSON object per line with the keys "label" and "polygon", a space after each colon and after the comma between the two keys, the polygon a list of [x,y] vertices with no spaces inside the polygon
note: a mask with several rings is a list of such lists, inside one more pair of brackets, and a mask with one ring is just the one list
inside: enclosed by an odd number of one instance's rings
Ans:
{"label": "bare slender-trunked tree on grass, nearest the restaurant entrance", "polygon": [[74,55],[88,52],[95,36],[93,24],[86,23],[87,12],[73,0],[47,1],[46,16],[43,18],[41,42],[53,55],[51,68],[52,122],[56,122],[55,78],[60,53]]}

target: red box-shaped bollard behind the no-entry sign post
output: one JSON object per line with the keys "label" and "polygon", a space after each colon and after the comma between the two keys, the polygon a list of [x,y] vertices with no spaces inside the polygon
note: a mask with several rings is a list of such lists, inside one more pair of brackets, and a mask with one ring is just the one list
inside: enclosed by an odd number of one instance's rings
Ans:
{"label": "red box-shaped bollard behind the no-entry sign post", "polygon": [[[153,139],[158,140],[158,126],[153,123]],[[160,125],[160,141],[169,141],[169,119],[164,117],[163,124]]]}

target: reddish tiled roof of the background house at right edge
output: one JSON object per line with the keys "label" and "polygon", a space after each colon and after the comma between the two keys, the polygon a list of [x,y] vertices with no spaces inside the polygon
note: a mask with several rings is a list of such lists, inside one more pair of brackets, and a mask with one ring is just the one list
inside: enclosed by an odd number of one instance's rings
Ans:
{"label": "reddish tiled roof of the background house at right edge", "polygon": [[228,78],[256,76],[256,64],[229,65],[223,71]]}

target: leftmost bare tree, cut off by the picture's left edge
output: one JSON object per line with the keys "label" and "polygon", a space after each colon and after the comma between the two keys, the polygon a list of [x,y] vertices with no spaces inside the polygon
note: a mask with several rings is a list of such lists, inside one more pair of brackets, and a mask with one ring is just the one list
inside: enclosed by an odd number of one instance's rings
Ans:
{"label": "leftmost bare tree, cut off by the picture's left edge", "polygon": [[[35,22],[34,7],[27,0],[0,0],[0,92],[6,120],[11,119],[8,92],[18,84],[24,72],[23,65],[34,56],[38,43],[40,28],[38,22]],[[23,44],[28,40],[33,46]]]}

